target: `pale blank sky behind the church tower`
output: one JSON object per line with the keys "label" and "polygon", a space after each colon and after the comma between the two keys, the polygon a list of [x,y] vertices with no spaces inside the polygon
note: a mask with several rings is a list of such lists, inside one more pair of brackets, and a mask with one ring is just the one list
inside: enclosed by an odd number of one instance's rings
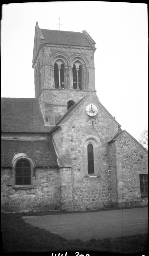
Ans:
{"label": "pale blank sky behind the church tower", "polygon": [[99,101],[136,140],[148,126],[147,4],[33,2],[2,5],[1,97],[34,98],[35,25],[82,32],[96,42]]}

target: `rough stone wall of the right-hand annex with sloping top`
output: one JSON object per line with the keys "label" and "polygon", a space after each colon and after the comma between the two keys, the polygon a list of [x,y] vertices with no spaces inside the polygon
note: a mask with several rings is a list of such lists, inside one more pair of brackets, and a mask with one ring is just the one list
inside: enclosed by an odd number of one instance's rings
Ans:
{"label": "rough stone wall of the right-hand annex with sloping top", "polygon": [[146,205],[141,197],[139,174],[147,173],[147,151],[126,132],[115,142],[118,205]]}

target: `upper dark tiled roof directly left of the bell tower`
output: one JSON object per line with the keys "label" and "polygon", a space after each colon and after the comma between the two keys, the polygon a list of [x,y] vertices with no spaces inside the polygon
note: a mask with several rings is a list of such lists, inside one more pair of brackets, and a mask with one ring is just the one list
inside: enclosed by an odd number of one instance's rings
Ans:
{"label": "upper dark tiled roof directly left of the bell tower", "polygon": [[2,132],[49,132],[38,99],[2,98]]}

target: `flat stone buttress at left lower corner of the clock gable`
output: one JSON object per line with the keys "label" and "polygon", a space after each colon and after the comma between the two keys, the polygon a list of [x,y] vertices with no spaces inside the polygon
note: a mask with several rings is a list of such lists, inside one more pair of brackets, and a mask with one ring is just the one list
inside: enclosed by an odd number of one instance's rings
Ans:
{"label": "flat stone buttress at left lower corner of the clock gable", "polygon": [[72,175],[71,167],[60,167],[60,200],[62,210],[72,211]]}

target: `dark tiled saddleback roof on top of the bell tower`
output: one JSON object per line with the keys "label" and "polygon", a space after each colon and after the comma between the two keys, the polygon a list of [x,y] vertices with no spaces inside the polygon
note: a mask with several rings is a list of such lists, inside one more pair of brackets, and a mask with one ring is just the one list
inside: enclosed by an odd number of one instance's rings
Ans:
{"label": "dark tiled saddleback roof on top of the bell tower", "polygon": [[87,37],[81,32],[49,30],[49,29],[40,29],[40,30],[43,34],[45,43],[93,47],[93,45],[90,43]]}

